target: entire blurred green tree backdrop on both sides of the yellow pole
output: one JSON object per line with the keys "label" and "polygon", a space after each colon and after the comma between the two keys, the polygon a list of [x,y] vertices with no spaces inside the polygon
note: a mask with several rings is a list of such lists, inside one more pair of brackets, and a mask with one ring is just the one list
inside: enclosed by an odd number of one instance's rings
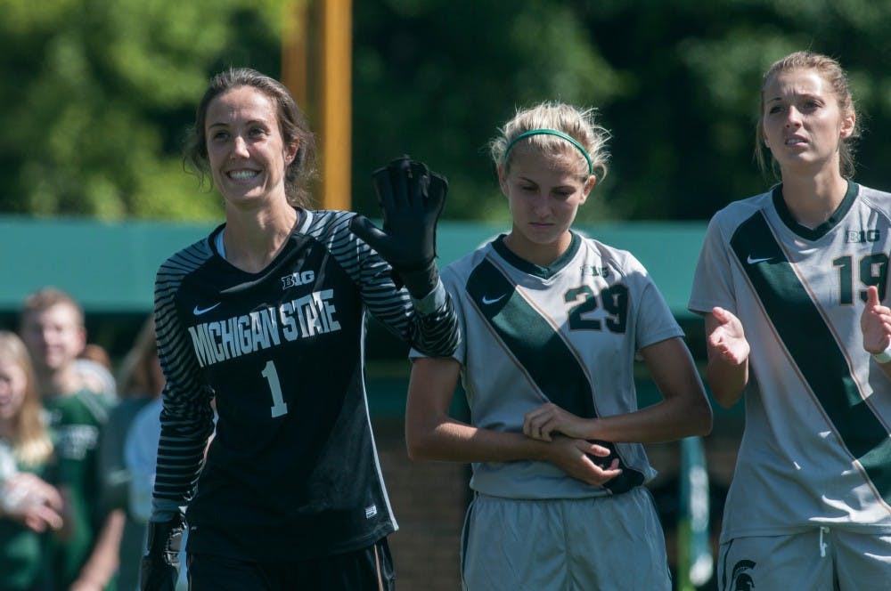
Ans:
{"label": "entire blurred green tree backdrop on both sides of the yellow pole", "polygon": [[[866,124],[855,179],[891,190],[889,0],[353,8],[352,203],[366,214],[372,170],[407,152],[449,177],[446,217],[506,220],[486,144],[518,107],[556,99],[599,108],[613,134],[580,221],[707,219],[774,182],[752,158],[761,74],[797,49],[848,70]],[[220,215],[183,173],[180,140],[217,69],[279,75],[282,0],[0,0],[0,13],[0,212]]]}

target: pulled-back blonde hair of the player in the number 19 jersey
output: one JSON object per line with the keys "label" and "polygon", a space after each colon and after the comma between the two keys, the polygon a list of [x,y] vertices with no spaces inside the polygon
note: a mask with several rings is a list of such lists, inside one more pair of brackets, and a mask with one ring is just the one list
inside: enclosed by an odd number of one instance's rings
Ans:
{"label": "pulled-back blonde hair of the player in the number 19 jersey", "polygon": [[[801,69],[813,69],[823,80],[830,84],[832,93],[835,95],[836,101],[838,101],[838,109],[841,111],[842,117],[854,115],[854,130],[850,135],[842,139],[841,146],[838,147],[839,172],[843,177],[849,179],[854,176],[854,141],[861,134],[860,117],[857,117],[857,108],[854,105],[854,97],[851,95],[845,70],[842,69],[838,61],[822,55],[822,53],[789,53],[781,60],[774,61],[771,67],[764,73],[764,81],[761,85],[761,110],[758,113],[758,125],[755,130],[755,158],[758,167],[764,174],[767,173],[767,158],[764,157],[764,152],[769,152],[770,150],[764,146],[764,87],[772,77],[777,76],[781,72]],[[777,163],[773,158],[771,158],[771,168],[773,173],[776,174]]]}

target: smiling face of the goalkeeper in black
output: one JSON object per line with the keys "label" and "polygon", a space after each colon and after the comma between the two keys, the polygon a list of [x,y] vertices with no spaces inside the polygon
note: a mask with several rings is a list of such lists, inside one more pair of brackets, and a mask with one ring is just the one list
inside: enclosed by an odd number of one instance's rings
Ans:
{"label": "smiling face of the goalkeeper in black", "polygon": [[205,124],[214,185],[227,206],[285,198],[284,171],[297,153],[285,146],[274,102],[238,86],[208,104]]}

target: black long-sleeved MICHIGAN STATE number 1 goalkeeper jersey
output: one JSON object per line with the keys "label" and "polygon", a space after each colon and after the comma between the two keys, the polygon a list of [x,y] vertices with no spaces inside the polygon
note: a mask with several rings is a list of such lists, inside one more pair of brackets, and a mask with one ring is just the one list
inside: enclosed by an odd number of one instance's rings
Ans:
{"label": "black long-sleeved MICHIGAN STATE number 1 goalkeeper jersey", "polygon": [[454,351],[444,287],[413,304],[349,231],[352,213],[298,214],[259,273],[219,255],[223,227],[158,272],[167,385],[153,505],[188,505],[190,552],[313,559],[396,530],[366,401],[365,313],[430,354]]}

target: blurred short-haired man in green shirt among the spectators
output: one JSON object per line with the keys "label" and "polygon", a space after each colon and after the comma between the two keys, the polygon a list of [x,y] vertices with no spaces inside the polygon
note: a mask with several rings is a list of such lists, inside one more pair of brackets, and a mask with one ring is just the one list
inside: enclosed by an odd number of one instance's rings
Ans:
{"label": "blurred short-haired man in green shirt among the spectators", "polygon": [[20,334],[56,436],[60,477],[69,490],[71,537],[52,544],[53,577],[62,589],[102,589],[118,569],[124,518],[120,512],[105,514],[99,504],[96,456],[109,401],[85,387],[75,366],[86,345],[84,312],[65,292],[45,287],[25,300]]}

